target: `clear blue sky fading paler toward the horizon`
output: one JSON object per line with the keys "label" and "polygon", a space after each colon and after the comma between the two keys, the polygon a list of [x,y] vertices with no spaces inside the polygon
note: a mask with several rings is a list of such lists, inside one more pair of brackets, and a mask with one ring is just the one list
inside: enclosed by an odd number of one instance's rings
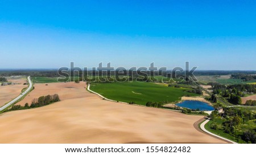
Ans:
{"label": "clear blue sky fading paler toward the horizon", "polygon": [[0,0],[0,68],[256,70],[256,1]]}

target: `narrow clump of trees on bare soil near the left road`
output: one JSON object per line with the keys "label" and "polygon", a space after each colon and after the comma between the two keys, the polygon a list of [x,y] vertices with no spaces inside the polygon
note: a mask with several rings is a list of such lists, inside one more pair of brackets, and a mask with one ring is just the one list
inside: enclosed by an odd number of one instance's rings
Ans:
{"label": "narrow clump of trees on bare soil near the left road", "polygon": [[40,96],[39,98],[35,98],[31,105],[26,103],[24,106],[21,105],[13,105],[11,109],[6,110],[7,111],[13,111],[13,110],[23,110],[23,109],[30,109],[30,108],[35,108],[35,107],[41,107],[41,106],[46,106],[49,104],[52,104],[54,102],[60,101],[59,95],[58,94],[53,94],[53,95],[47,95],[47,96]]}

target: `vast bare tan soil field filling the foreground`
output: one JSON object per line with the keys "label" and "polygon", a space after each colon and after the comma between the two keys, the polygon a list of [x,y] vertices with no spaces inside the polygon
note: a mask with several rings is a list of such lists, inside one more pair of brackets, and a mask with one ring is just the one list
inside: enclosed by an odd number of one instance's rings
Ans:
{"label": "vast bare tan soil field filling the foreground", "polygon": [[[54,92],[60,102],[1,114],[0,143],[225,143],[193,127],[202,116],[101,100],[85,83],[62,85]],[[75,87],[66,98],[65,85]]]}

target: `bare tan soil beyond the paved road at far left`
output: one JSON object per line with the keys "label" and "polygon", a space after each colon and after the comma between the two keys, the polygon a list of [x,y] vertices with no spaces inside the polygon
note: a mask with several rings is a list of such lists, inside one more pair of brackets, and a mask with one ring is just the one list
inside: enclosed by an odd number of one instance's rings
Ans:
{"label": "bare tan soil beyond the paved road at far left", "polygon": [[0,106],[5,105],[7,102],[13,100],[15,97],[19,96],[23,88],[26,88],[27,85],[23,85],[26,83],[26,79],[15,79],[8,81],[16,83],[14,85],[0,85]]}

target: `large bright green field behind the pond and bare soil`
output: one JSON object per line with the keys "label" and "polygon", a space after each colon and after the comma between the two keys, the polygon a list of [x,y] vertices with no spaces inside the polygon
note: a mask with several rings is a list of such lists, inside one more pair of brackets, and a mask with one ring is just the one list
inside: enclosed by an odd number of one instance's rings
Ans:
{"label": "large bright green field behind the pond and bare soil", "polygon": [[102,94],[106,98],[146,105],[146,102],[174,102],[182,96],[197,96],[198,94],[186,92],[189,88],[167,87],[161,84],[146,82],[125,83],[92,83],[92,91]]}

